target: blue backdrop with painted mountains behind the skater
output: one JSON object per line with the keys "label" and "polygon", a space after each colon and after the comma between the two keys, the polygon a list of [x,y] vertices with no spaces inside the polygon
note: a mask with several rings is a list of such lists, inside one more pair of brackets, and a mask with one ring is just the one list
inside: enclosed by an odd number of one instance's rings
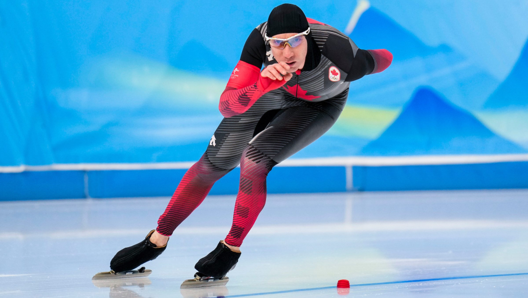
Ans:
{"label": "blue backdrop with painted mountains behind the skater", "polygon": [[[244,41],[280,3],[0,2],[0,166],[197,160]],[[294,158],[528,151],[528,2],[294,3],[394,54]]]}

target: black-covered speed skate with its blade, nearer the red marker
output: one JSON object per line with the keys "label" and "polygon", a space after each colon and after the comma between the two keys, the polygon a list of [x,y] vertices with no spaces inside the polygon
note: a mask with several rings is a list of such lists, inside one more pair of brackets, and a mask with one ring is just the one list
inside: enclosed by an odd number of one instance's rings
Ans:
{"label": "black-covered speed skate with its blade, nearer the red marker", "polygon": [[237,265],[240,252],[233,252],[220,241],[216,248],[201,258],[194,268],[194,280],[186,280],[181,288],[225,285],[229,277],[225,275]]}

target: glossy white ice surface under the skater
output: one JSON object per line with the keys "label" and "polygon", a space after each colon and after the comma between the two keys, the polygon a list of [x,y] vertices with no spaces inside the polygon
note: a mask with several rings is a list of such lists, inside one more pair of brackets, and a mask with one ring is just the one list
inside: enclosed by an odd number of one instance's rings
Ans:
{"label": "glossy white ice surface under the skater", "polygon": [[206,198],[145,264],[149,277],[97,286],[93,274],[155,228],[168,198],[0,203],[0,297],[528,293],[528,190],[269,195],[227,286],[181,291],[229,232],[234,198]]}

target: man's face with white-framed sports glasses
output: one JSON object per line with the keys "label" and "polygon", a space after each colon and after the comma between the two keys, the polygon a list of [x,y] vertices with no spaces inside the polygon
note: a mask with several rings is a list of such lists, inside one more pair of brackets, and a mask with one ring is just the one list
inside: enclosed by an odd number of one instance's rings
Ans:
{"label": "man's face with white-framed sports glasses", "polygon": [[[272,37],[277,39],[287,39],[297,33],[282,33]],[[291,47],[286,44],[284,48],[271,46],[271,53],[275,57],[277,62],[286,62],[290,69],[288,72],[295,72],[296,70],[303,69],[304,62],[306,61],[306,53],[308,52],[308,42],[306,41],[305,35],[300,35],[303,42],[296,47]],[[297,37],[296,37],[297,38]]]}

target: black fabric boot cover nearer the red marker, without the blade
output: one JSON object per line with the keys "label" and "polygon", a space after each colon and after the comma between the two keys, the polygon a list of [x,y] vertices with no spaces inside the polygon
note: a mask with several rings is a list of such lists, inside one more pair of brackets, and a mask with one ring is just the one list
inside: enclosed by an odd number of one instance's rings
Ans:
{"label": "black fabric boot cover nearer the red marker, without the blade", "polygon": [[201,258],[194,268],[203,276],[223,278],[238,263],[241,253],[233,252],[221,241],[216,248]]}

